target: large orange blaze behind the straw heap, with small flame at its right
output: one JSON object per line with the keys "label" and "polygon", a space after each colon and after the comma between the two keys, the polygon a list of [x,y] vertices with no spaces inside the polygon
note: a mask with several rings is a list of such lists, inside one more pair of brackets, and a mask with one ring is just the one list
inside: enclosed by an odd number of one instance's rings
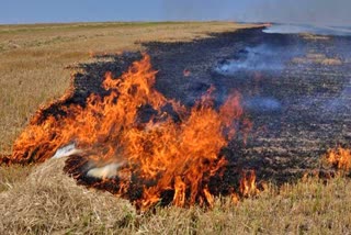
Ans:
{"label": "large orange blaze behind the straw heap, with small flame at its right", "polygon": [[[156,74],[145,55],[120,78],[106,74],[105,96],[91,94],[84,107],[71,104],[56,116],[38,112],[14,143],[11,160],[41,163],[68,146],[66,172],[141,210],[167,200],[212,205],[216,190],[210,181],[227,164],[220,150],[239,123],[248,126],[240,96],[234,92],[216,110],[212,87],[185,108],[154,88]],[[244,180],[241,194],[256,192],[254,172]]]}

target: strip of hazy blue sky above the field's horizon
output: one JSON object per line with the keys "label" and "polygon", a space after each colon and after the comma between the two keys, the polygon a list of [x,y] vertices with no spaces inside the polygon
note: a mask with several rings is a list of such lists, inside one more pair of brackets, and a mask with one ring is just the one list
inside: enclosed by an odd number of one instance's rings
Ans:
{"label": "strip of hazy blue sky above the field's horizon", "polygon": [[0,0],[0,24],[273,21],[351,26],[351,0]]}

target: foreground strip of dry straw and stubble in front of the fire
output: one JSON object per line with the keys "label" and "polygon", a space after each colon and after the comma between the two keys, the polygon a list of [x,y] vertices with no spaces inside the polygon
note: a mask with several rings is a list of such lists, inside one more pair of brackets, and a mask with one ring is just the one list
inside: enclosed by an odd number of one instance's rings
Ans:
{"label": "foreground strip of dry straw and stubble in front of the fire", "polygon": [[310,178],[269,187],[235,205],[217,199],[212,210],[157,208],[137,214],[125,200],[88,190],[52,159],[0,193],[0,234],[348,234],[351,182]]}

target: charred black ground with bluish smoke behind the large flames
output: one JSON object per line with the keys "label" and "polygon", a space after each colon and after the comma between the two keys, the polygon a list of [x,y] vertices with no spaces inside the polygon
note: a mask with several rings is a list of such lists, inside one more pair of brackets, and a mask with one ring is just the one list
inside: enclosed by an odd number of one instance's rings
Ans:
{"label": "charred black ground with bluish smoke behind the large flames", "polygon": [[[350,146],[351,37],[250,29],[143,46],[159,70],[156,88],[168,98],[191,107],[211,85],[216,87],[217,105],[233,90],[242,94],[253,130],[246,145],[234,141],[223,150],[230,163],[225,182],[237,181],[241,169],[256,169],[258,179],[292,180],[320,168],[328,148]],[[120,76],[141,54],[104,57],[109,60],[81,65],[84,72],[75,76],[72,96],[44,110],[41,119],[63,113],[64,105],[84,105],[91,92],[104,96],[104,74]]]}

